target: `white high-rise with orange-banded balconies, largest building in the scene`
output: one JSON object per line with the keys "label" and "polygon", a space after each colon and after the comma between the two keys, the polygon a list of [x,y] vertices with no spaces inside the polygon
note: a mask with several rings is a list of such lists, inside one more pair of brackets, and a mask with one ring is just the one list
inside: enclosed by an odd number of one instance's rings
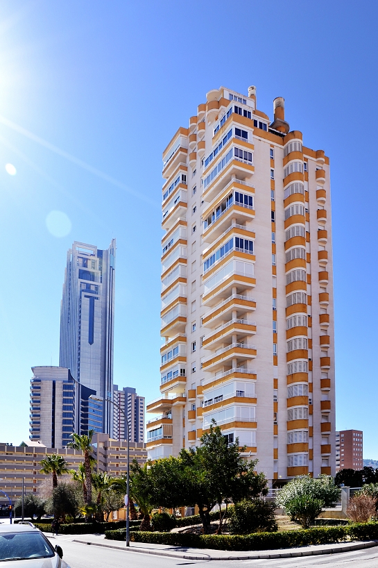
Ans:
{"label": "white high-rise with orange-banded balconies, largest building in the scene", "polygon": [[212,419],[268,479],[334,474],[329,158],[221,87],[163,152],[161,395],[152,459]]}

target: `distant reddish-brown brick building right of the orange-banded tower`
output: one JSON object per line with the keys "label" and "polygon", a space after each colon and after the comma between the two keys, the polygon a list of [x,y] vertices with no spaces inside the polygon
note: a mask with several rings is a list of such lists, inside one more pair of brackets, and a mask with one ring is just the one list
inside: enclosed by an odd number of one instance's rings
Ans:
{"label": "distant reddish-brown brick building right of the orange-banded tower", "polygon": [[341,430],[336,432],[336,471],[363,469],[363,432]]}

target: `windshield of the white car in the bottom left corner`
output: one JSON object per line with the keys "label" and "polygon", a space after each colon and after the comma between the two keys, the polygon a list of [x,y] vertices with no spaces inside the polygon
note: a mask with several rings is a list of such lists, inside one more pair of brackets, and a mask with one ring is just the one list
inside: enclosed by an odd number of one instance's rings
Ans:
{"label": "windshield of the white car in the bottom left corner", "polygon": [[51,545],[37,531],[33,531],[33,533],[0,533],[0,562],[51,556],[54,556]]}

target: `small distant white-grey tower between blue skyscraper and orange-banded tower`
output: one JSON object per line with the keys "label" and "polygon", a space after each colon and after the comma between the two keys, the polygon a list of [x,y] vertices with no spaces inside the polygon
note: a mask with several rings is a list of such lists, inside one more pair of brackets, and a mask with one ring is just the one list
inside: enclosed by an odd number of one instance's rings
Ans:
{"label": "small distant white-grey tower between blue skyscraper and orange-banded tower", "polygon": [[113,401],[121,407],[121,410],[117,406],[113,409],[114,439],[127,440],[126,415],[130,442],[144,442],[144,396],[139,396],[132,387],[119,390],[118,385],[114,385]]}

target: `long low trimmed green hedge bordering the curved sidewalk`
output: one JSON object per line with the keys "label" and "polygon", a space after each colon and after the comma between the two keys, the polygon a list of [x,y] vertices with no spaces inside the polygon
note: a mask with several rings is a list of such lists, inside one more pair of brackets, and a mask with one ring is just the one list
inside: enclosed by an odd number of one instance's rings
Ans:
{"label": "long low trimmed green hedge bordering the curved sidewalk", "polygon": [[[166,544],[185,548],[248,551],[284,549],[310,544],[331,544],[347,537],[352,540],[377,540],[378,523],[351,524],[350,526],[315,527],[307,530],[282,533],[254,533],[252,535],[194,535],[190,533],[130,532],[132,542]],[[126,531],[105,531],[108,540],[126,540]]]}

